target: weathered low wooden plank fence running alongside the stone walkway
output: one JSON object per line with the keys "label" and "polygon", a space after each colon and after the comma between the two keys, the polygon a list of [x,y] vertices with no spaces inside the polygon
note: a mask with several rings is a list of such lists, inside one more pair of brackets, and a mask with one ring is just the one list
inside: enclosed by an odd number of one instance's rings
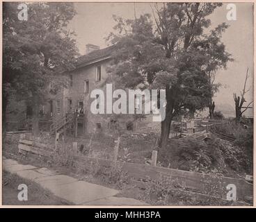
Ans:
{"label": "weathered low wooden plank fence running alongside the stone walkway", "polygon": [[[76,143],[74,143],[76,145]],[[77,148],[77,146],[74,146]],[[20,153],[33,153],[45,157],[54,155],[54,146],[40,144],[27,139],[19,139]],[[116,148],[115,151],[116,152]],[[116,155],[116,154],[115,154]],[[227,198],[227,185],[234,186],[237,192],[237,200],[245,200],[253,196],[253,184],[239,178],[228,178],[215,176],[211,174],[196,173],[191,171],[182,171],[178,169],[169,169],[165,167],[154,167],[145,164],[135,164],[129,162],[120,162],[113,160],[104,160],[92,158],[83,155],[77,155],[74,151],[73,160],[75,165],[83,169],[91,169],[92,166],[99,165],[101,171],[107,172],[113,166],[119,166],[122,172],[127,173],[131,182],[137,187],[146,188],[147,182],[164,182],[172,183],[173,189],[179,191],[192,192],[200,198]]]}

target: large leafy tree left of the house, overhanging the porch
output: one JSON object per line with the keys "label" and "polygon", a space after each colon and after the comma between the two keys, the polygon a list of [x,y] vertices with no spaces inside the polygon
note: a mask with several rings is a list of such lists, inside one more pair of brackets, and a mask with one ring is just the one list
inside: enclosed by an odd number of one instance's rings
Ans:
{"label": "large leafy tree left of the house, overhanging the porch", "polygon": [[19,3],[3,3],[3,122],[10,93],[33,106],[38,134],[39,105],[47,86],[65,85],[61,74],[72,69],[77,48],[67,30],[76,14],[73,3],[28,3],[28,19],[18,18]]}

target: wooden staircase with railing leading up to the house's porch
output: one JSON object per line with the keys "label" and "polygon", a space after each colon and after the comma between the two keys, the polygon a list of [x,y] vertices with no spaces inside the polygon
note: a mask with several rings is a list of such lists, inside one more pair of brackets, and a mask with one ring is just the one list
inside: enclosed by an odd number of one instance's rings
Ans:
{"label": "wooden staircase with railing leading up to the house's porch", "polygon": [[74,123],[74,114],[66,114],[65,117],[52,123],[50,126],[50,134],[54,135],[55,133],[59,133],[61,135],[64,133],[65,127],[70,123]]}

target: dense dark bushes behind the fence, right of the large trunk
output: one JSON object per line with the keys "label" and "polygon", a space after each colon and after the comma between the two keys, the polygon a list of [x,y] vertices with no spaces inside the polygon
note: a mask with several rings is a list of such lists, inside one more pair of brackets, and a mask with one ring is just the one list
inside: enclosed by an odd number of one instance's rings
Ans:
{"label": "dense dark bushes behind the fence, right of the large trunk", "polygon": [[170,139],[168,146],[159,151],[162,167],[214,173],[225,176],[251,173],[253,166],[253,146],[248,151],[211,135],[209,139]]}

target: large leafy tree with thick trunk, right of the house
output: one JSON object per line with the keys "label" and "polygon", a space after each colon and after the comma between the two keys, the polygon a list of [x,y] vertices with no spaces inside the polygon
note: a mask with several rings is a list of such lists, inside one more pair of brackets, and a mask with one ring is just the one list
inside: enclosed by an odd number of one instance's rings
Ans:
{"label": "large leafy tree with thick trunk, right of the house", "polygon": [[225,68],[230,54],[221,42],[225,23],[209,31],[209,15],[221,3],[163,3],[138,19],[114,17],[109,38],[116,44],[109,71],[125,87],[166,89],[166,119],[159,146],[164,146],[175,115],[209,105],[218,87],[209,77]]}

